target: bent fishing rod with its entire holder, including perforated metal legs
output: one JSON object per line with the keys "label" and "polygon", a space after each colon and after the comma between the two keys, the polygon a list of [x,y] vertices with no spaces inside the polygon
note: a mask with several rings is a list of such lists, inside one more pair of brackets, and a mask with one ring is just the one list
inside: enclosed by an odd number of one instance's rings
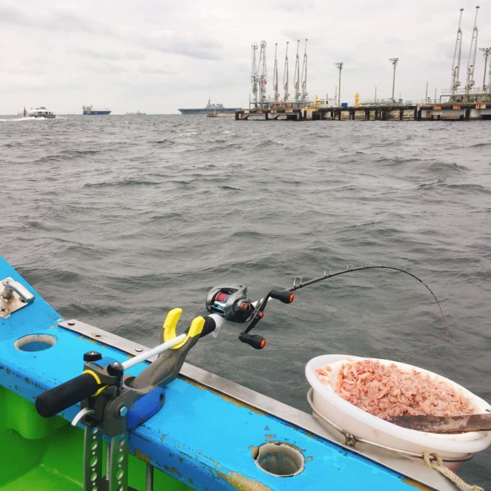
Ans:
{"label": "bent fishing rod with its entire holder, including perforated metal legs", "polygon": [[[220,327],[226,321],[245,323],[239,334],[239,340],[255,349],[263,349],[266,340],[263,336],[249,334],[259,320],[271,298],[284,304],[291,304],[295,291],[328,280],[341,274],[353,273],[364,269],[393,269],[406,273],[421,282],[436,300],[442,317],[444,315],[440,302],[428,285],[406,269],[395,266],[353,267],[332,273],[326,269],[322,276],[302,281],[297,276],[293,286],[283,290],[271,290],[264,298],[251,302],[247,287],[237,284],[222,284],[213,287],[206,300],[210,314],[195,317],[184,334],[176,335],[176,325],[182,309],[171,310],[163,323],[161,344],[138,356],[119,362],[103,356],[98,351],[88,351],[83,355],[81,375],[55,386],[36,398],[36,410],[41,416],[51,417],[81,403],[81,408],[72,425],[82,423],[85,426],[83,445],[83,482],[84,490],[103,487],[106,479],[109,489],[127,491],[129,432],[142,425],[161,410],[165,403],[165,386],[174,380],[185,361],[189,350],[207,334],[216,337]],[[446,324],[446,321],[445,321]],[[149,356],[158,355],[136,376],[127,373],[135,364],[145,362]],[[103,435],[109,440],[111,452],[103,475]],[[118,449],[118,451],[114,451]]]}

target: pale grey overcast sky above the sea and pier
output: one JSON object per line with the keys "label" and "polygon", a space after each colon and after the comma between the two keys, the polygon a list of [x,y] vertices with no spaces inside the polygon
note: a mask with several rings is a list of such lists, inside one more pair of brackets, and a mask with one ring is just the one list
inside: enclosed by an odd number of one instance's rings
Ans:
{"label": "pale grey overcast sky above the sea and pier", "polygon": [[[466,66],[476,1],[469,0],[0,0],[0,114],[45,105],[58,114],[81,106],[115,114],[177,113],[208,99],[247,107],[251,44],[267,42],[272,95],[274,47],[283,81],[289,41],[290,93],[297,39],[308,38],[307,92],[341,102],[389,98],[391,57],[399,57],[395,96],[423,99],[449,89],[460,8]],[[491,47],[491,3],[477,16],[477,47]],[[491,61],[491,60],[490,60]],[[477,52],[476,85],[484,56]],[[281,91],[280,91],[281,92]]]}

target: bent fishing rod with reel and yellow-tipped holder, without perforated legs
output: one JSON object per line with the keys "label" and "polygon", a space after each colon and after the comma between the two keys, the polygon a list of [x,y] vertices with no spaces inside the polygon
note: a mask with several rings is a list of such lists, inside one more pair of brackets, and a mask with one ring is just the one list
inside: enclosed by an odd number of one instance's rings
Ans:
{"label": "bent fishing rod with reel and yellow-tipped holder, without perforated legs", "polygon": [[[283,290],[273,289],[265,297],[256,302],[252,302],[248,297],[247,287],[245,285],[222,284],[213,287],[207,295],[206,307],[210,314],[206,317],[196,317],[183,334],[176,334],[176,324],[181,316],[182,310],[175,308],[168,313],[163,324],[161,344],[150,349],[150,351],[146,351],[122,363],[109,358],[103,358],[101,354],[95,351],[86,353],[84,355],[85,370],[83,374],[40,395],[36,399],[36,410],[42,416],[49,417],[79,401],[85,400],[85,405],[74,420],[75,424],[81,419],[87,424],[94,422],[98,422],[97,424],[99,424],[105,420],[107,434],[114,436],[113,434],[122,431],[122,422],[120,421],[118,423],[119,416],[113,410],[117,412],[123,407],[130,408],[136,406],[137,401],[141,397],[174,380],[183,365],[187,352],[203,336],[212,334],[213,337],[216,337],[226,321],[245,323],[245,327],[239,334],[239,340],[255,349],[263,349],[266,345],[265,338],[249,333],[256,327],[258,321],[263,319],[264,310],[269,300],[276,299],[284,304],[291,304],[295,297],[293,292],[297,290],[323,280],[340,276],[341,274],[354,273],[355,271],[366,269],[390,269],[408,274],[418,280],[432,294],[438,304],[438,308],[440,308],[444,326],[447,327],[447,321],[445,320],[440,302],[438,302],[433,291],[421,278],[406,271],[406,269],[397,267],[397,265],[386,266],[382,264],[379,266],[367,264],[362,267],[348,265],[347,269],[337,271],[336,273],[332,273],[330,269],[326,269],[322,276],[305,282],[300,276],[297,276],[293,282],[293,286]],[[157,360],[148,365],[137,377],[130,377],[125,374],[127,369],[133,367],[133,365],[144,362],[150,356],[155,355],[158,355]],[[103,394],[104,397],[96,397],[99,394]],[[94,401],[98,401],[97,404]],[[109,401],[112,402],[108,406]],[[152,411],[156,412],[159,410],[161,403],[163,403],[163,400],[161,400],[160,404],[153,404],[155,407],[152,406]],[[112,408],[111,417],[104,416],[107,407]],[[137,414],[135,416],[137,423],[133,421],[131,425],[141,424],[151,414],[155,414],[152,411],[145,410],[144,414],[140,414],[133,410],[133,414]],[[92,416],[90,416],[89,412],[92,413]]]}

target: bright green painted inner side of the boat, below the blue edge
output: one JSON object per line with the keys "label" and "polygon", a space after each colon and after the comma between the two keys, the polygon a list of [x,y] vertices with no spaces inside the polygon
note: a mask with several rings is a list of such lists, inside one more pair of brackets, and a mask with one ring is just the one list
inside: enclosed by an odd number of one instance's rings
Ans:
{"label": "bright green painted inner side of the boat, below the blue edge", "polygon": [[[34,404],[0,386],[0,490],[83,490],[83,430],[55,416],[44,419]],[[104,446],[105,447],[105,446]],[[154,488],[192,490],[154,468]],[[129,486],[145,490],[146,463],[129,458]]]}

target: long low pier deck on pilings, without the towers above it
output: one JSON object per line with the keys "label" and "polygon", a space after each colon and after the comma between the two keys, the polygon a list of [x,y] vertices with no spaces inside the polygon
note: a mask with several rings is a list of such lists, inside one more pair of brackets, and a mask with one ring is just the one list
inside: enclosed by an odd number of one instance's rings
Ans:
{"label": "long low pier deck on pilings, without the towers above it", "polygon": [[235,111],[235,120],[491,120],[491,103],[425,103],[404,105],[359,105],[351,107],[263,107]]}

